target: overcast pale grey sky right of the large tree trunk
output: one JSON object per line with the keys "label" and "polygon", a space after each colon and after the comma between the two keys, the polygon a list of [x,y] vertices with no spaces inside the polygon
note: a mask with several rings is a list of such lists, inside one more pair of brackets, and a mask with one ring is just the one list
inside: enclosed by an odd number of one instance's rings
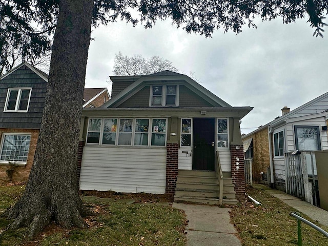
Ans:
{"label": "overcast pale grey sky right of the large tree trunk", "polygon": [[257,22],[257,29],[223,33],[213,38],[187,34],[158,22],[152,29],[117,22],[93,30],[89,49],[86,88],[108,87],[115,53],[158,55],[172,61],[180,73],[232,106],[254,109],[242,119],[241,132],[249,133],[281,115],[327,92],[328,29],[323,38],[313,37],[306,20],[284,25],[277,19]]}

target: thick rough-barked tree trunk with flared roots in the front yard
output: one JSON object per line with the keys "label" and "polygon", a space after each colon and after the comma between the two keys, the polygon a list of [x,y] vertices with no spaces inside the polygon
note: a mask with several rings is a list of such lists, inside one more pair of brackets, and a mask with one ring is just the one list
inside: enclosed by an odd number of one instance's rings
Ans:
{"label": "thick rough-barked tree trunk with flared roots in the front yard", "polygon": [[53,41],[46,106],[26,191],[5,215],[29,237],[54,220],[84,226],[90,214],[78,196],[77,151],[90,44],[92,0],[63,0]]}

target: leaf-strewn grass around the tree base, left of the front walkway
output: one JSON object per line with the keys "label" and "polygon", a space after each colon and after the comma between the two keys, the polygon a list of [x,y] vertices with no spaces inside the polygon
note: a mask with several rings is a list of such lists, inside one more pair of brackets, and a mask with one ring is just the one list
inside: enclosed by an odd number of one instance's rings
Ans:
{"label": "leaf-strewn grass around the tree base, left of the front walkway", "polygon": [[[0,208],[4,212],[23,194],[24,186],[0,186]],[[88,228],[65,230],[49,225],[33,241],[24,238],[27,229],[7,230],[0,218],[0,245],[186,245],[185,215],[170,206],[153,203],[88,202],[95,216],[85,218]]]}

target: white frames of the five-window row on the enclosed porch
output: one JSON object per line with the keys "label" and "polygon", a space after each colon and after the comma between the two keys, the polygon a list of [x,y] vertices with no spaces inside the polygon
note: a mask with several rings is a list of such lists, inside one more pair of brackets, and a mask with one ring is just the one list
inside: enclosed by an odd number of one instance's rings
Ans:
{"label": "white frames of the five-window row on the enclosed porch", "polygon": [[[89,133],[89,120],[90,119],[101,119],[101,125],[100,125],[100,136],[99,136],[99,142],[98,143],[91,143],[88,142],[88,133]],[[103,133],[104,133],[104,122],[105,119],[117,119],[117,125],[116,125],[116,138],[115,138],[115,145],[109,145],[109,144],[102,144],[103,143]],[[118,144],[118,136],[119,136],[119,124],[120,119],[132,119],[132,137],[131,137],[131,145],[119,145]],[[135,125],[137,119],[148,119],[149,120],[149,131],[148,131],[148,141],[147,145],[134,145],[134,138],[135,138]],[[166,126],[165,126],[165,145],[164,146],[156,146],[151,144],[152,134],[153,134],[153,119],[165,119],[166,120]],[[94,132],[94,131],[92,131]],[[114,132],[113,132],[114,133]],[[163,133],[162,133],[163,134]],[[167,146],[167,138],[168,138],[168,118],[162,118],[162,117],[153,117],[153,118],[147,118],[147,117],[135,117],[135,118],[129,118],[129,117],[90,117],[88,119],[88,128],[87,128],[87,136],[86,136],[86,144],[88,146],[112,146],[112,147],[137,147],[137,148],[147,148],[147,147],[155,147],[155,148],[163,148]]]}

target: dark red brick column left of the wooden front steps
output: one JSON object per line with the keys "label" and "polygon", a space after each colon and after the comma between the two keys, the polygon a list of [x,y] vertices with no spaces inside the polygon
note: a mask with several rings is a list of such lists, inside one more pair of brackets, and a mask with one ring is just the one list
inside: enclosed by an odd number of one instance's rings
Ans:
{"label": "dark red brick column left of the wooden front steps", "polygon": [[178,176],[178,144],[167,144],[166,147],[166,187],[165,193],[174,194]]}

